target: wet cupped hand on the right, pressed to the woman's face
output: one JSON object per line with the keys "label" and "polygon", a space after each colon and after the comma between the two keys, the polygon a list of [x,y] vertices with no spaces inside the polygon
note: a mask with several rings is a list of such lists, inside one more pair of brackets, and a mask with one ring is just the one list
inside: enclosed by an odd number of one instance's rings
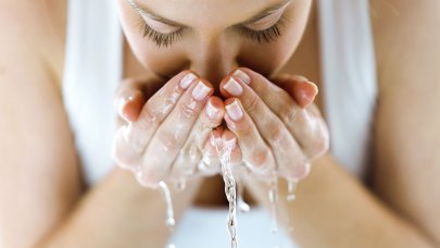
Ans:
{"label": "wet cupped hand on the right, pressed to the woman's face", "polygon": [[310,173],[311,162],[328,150],[328,128],[313,104],[317,94],[313,83],[288,75],[274,82],[240,69],[221,83],[225,121],[238,142],[235,163],[241,159],[262,181],[274,174],[299,181]]}

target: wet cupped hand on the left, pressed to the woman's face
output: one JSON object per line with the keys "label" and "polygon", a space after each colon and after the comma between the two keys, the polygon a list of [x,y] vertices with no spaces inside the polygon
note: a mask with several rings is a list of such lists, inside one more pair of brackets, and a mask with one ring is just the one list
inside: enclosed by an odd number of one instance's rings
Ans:
{"label": "wet cupped hand on the left, pressed to the woman's face", "polygon": [[152,84],[156,83],[121,84],[115,106],[124,124],[115,134],[113,158],[141,185],[156,187],[161,181],[203,173],[197,171],[202,149],[223,122],[225,108],[212,96],[212,85],[190,71],[174,76],[159,91],[147,87]]}

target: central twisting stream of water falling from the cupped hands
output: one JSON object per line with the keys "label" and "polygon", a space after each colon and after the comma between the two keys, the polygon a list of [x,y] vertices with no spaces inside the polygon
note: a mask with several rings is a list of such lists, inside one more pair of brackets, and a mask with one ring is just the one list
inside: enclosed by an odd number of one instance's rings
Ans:
{"label": "central twisting stream of water falling from the cupped hands", "polygon": [[[235,142],[235,140],[234,140]],[[230,153],[234,144],[224,144],[221,138],[215,140],[215,148],[222,164],[222,176],[225,182],[225,194],[229,201],[229,211],[227,216],[227,228],[230,236],[230,247],[236,248],[237,243],[237,188],[236,181],[230,168]]]}

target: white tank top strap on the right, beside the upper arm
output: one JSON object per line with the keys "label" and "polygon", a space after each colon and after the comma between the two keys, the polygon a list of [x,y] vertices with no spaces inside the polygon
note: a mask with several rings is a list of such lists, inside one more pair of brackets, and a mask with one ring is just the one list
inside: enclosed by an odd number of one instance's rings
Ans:
{"label": "white tank top strap on the right, beside the upper arm", "polygon": [[331,153],[364,175],[377,97],[367,0],[319,0],[324,97]]}

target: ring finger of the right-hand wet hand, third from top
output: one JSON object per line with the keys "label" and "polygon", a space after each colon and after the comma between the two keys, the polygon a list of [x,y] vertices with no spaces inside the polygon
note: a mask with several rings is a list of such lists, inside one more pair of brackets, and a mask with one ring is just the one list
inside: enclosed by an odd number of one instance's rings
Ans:
{"label": "ring finger of the right-hand wet hand, third from top", "polygon": [[267,174],[275,173],[276,163],[272,150],[261,137],[254,122],[246,113],[240,101],[237,98],[229,98],[225,101],[225,106],[226,124],[238,139],[243,162],[262,179]]}

